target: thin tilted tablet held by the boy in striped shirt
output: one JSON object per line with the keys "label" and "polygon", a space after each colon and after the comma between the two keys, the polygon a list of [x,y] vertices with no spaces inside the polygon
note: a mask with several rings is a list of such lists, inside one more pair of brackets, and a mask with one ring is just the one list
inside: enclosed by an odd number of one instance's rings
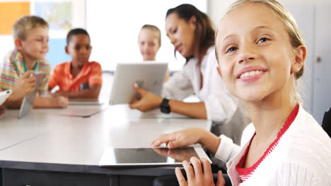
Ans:
{"label": "thin tilted tablet held by the boy in striped shirt", "polygon": [[35,89],[30,94],[26,95],[23,98],[20,112],[18,113],[18,118],[23,118],[23,116],[27,115],[31,109],[33,109],[33,103],[35,102],[35,95],[38,92],[40,87],[40,81],[42,80],[44,75],[42,73],[35,73]]}

